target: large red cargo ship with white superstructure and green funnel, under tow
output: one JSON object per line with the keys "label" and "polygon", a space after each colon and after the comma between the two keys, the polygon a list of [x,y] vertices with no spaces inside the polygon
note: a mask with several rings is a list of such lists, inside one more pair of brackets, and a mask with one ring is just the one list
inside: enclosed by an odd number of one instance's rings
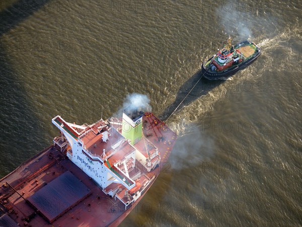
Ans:
{"label": "large red cargo ship with white superstructure and green funnel, under tow", "polygon": [[92,125],[52,119],[53,145],[0,180],[0,225],[116,226],[167,162],[177,135],[126,108]]}

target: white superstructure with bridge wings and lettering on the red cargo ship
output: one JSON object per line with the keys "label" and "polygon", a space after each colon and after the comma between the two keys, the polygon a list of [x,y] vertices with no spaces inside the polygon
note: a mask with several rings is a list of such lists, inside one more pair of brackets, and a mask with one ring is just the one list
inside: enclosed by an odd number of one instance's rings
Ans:
{"label": "white superstructure with bridge wings and lettering on the red cargo ship", "polygon": [[[132,127],[139,125],[142,119],[138,116],[140,122],[137,117],[132,122],[132,118],[125,113],[123,118]],[[161,158],[158,148],[143,137],[141,130],[129,132],[122,129],[119,132],[118,128],[121,129],[124,125],[118,121],[100,120],[92,125],[71,124],[60,116],[54,117],[52,123],[68,141],[68,159],[91,177],[106,194],[118,197],[126,207],[152,181],[144,173],[153,170]],[[131,138],[135,141],[131,141]],[[58,142],[55,143],[59,145]]]}

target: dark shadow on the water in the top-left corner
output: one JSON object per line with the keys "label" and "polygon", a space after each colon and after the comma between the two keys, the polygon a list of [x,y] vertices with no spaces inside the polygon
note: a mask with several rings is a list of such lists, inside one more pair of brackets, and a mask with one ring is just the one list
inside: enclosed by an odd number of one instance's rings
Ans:
{"label": "dark shadow on the water in the top-left corner", "polygon": [[0,13],[0,36],[10,31],[28,16],[38,11],[49,0],[20,0]]}

